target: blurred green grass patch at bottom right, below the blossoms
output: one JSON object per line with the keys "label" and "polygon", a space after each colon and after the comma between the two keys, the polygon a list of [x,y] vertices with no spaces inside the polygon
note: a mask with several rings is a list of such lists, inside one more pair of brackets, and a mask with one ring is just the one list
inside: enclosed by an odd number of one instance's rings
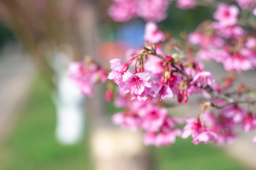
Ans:
{"label": "blurred green grass patch at bottom right, below the blossoms", "polygon": [[194,145],[192,139],[177,138],[172,146],[152,147],[157,170],[245,170],[221,148],[211,144]]}

